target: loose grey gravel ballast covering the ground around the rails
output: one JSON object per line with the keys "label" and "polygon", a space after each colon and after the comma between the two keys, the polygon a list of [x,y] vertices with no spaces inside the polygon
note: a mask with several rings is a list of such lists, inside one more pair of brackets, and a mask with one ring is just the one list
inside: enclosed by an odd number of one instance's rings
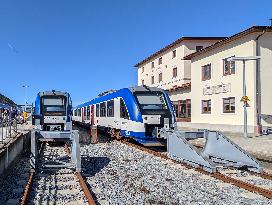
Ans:
{"label": "loose grey gravel ballast covering the ground around the rails", "polygon": [[[86,132],[85,132],[86,133]],[[83,136],[84,132],[80,132]],[[261,195],[248,192],[236,186],[226,184],[193,169],[188,169],[170,160],[164,160],[118,141],[81,145],[82,175],[97,201],[107,204],[271,204],[272,201]],[[0,179],[0,204],[9,199],[18,199],[27,180],[29,160],[23,157],[11,169],[8,175]],[[82,200],[78,187],[66,186],[73,181],[72,176],[62,176],[60,190],[66,192],[64,198],[54,198],[65,204],[68,201]],[[231,174],[231,173],[229,173]],[[233,174],[232,174],[233,176]],[[53,177],[56,175],[53,174]],[[58,176],[57,176],[58,177]],[[237,176],[238,177],[238,176]],[[250,177],[250,176],[246,176]],[[51,176],[37,176],[34,188],[41,187],[44,180]],[[249,180],[249,179],[248,179]],[[254,178],[254,184],[271,185],[263,179]],[[58,179],[59,181],[59,179]],[[250,181],[250,180],[249,180]],[[252,181],[253,182],[253,181]],[[62,186],[63,183],[63,186]],[[65,185],[65,186],[64,186]],[[76,185],[76,183],[71,183]],[[47,190],[48,187],[43,189]],[[52,186],[52,190],[55,187]],[[73,192],[74,189],[74,192]],[[35,192],[34,192],[35,193]],[[37,192],[36,192],[37,193]],[[75,195],[75,193],[77,193]],[[30,204],[38,204],[42,195],[31,194]],[[65,193],[62,193],[62,196]],[[69,200],[67,200],[69,199]],[[83,200],[83,203],[86,201]],[[71,204],[71,203],[70,203]]]}

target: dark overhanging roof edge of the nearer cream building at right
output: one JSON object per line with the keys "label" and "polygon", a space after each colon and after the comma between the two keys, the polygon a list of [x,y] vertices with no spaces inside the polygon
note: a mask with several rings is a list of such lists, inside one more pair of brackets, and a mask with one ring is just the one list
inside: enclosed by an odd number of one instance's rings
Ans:
{"label": "dark overhanging roof edge of the nearer cream building at right", "polygon": [[212,49],[215,49],[217,47],[223,46],[223,45],[225,45],[225,44],[227,44],[227,43],[229,43],[231,41],[235,41],[235,40],[237,40],[239,38],[242,38],[242,37],[244,37],[246,35],[249,35],[251,33],[262,32],[264,30],[272,31],[272,26],[252,26],[252,27],[250,27],[250,28],[248,28],[248,29],[246,29],[244,31],[241,31],[241,32],[239,32],[237,34],[234,34],[233,36],[230,36],[230,37],[225,38],[225,39],[223,39],[221,41],[218,41],[218,42],[216,42],[216,43],[214,43],[214,44],[212,44],[210,46],[207,46],[207,47],[201,49],[200,51],[197,51],[197,52],[194,52],[194,53],[192,53],[190,55],[187,55],[187,56],[184,57],[184,60],[191,60],[192,58],[194,58],[194,57],[196,57],[198,55],[206,53],[206,52],[208,52],[208,51],[210,51]]}

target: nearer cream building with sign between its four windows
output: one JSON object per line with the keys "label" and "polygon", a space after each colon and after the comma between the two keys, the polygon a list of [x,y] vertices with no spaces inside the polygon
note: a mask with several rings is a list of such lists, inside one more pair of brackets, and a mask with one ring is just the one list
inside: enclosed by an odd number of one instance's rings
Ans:
{"label": "nearer cream building with sign between its four windows", "polygon": [[243,63],[246,61],[248,131],[272,127],[272,27],[253,26],[185,57],[191,60],[191,123],[182,126],[243,132]]}

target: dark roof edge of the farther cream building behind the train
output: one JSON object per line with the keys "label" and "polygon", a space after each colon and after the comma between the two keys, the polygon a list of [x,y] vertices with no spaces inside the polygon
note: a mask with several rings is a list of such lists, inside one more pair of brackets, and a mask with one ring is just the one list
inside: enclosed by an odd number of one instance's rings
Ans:
{"label": "dark roof edge of the farther cream building behind the train", "polygon": [[225,39],[225,38],[226,37],[181,37],[181,38],[177,39],[176,41],[174,41],[173,43],[171,43],[171,44],[163,47],[159,51],[151,54],[146,59],[140,61],[139,63],[137,63],[136,65],[134,65],[134,67],[139,67],[143,63],[151,60],[152,58],[158,56],[159,54],[161,54],[161,53],[163,53],[165,51],[167,51],[168,49],[173,48],[175,45],[179,44],[182,41],[187,41],[187,40],[222,40],[222,39]]}

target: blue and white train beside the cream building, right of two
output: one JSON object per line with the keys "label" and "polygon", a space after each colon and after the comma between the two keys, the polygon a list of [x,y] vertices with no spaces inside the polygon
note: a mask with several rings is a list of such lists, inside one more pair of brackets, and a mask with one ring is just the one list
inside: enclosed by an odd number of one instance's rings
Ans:
{"label": "blue and white train beside the cream building, right of two", "polygon": [[137,86],[114,91],[73,108],[73,121],[107,130],[113,137],[130,137],[156,145],[161,128],[174,129],[175,114],[168,94]]}

